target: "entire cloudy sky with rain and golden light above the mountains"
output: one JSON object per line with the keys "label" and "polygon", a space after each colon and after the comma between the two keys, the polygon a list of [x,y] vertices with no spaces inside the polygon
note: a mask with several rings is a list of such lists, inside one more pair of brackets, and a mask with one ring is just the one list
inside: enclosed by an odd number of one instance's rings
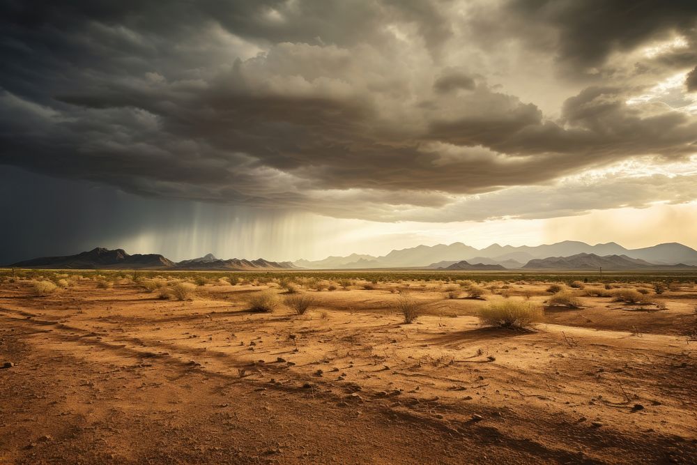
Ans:
{"label": "entire cloudy sky with rain and golden light above the mountains", "polygon": [[697,3],[3,1],[0,263],[697,247]]}

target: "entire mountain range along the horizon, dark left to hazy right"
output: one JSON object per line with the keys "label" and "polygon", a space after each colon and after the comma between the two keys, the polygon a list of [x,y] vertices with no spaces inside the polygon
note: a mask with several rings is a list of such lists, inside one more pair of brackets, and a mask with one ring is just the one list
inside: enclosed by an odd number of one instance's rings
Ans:
{"label": "entire mountain range along the horizon, dark left to hazy right", "polygon": [[493,244],[477,249],[464,243],[418,245],[381,257],[351,254],[323,260],[268,261],[218,259],[206,254],[196,259],[171,261],[160,254],[128,254],[123,249],[97,247],[62,257],[19,261],[20,268],[121,268],[152,270],[290,270],[426,268],[444,270],[697,270],[697,250],[679,243],[627,249],[617,243],[589,245],[563,241],[531,247]]}

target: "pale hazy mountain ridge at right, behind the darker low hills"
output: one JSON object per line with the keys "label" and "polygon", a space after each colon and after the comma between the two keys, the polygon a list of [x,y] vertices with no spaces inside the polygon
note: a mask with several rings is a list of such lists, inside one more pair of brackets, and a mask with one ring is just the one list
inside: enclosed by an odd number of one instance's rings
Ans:
{"label": "pale hazy mountain ridge at right, behind the darker low hills", "polygon": [[634,259],[666,265],[697,264],[697,250],[677,243],[631,250],[614,242],[589,245],[579,241],[562,241],[534,247],[492,244],[482,250],[456,242],[450,245],[438,244],[431,247],[419,245],[392,250],[381,257],[353,254],[348,257],[328,257],[319,261],[299,260],[295,264],[305,268],[438,268],[434,265],[441,262],[445,264],[448,261],[453,264],[466,260],[470,263],[477,261],[483,264],[501,264],[506,268],[519,268],[533,259],[571,257],[576,254],[595,254],[599,257],[626,255]]}

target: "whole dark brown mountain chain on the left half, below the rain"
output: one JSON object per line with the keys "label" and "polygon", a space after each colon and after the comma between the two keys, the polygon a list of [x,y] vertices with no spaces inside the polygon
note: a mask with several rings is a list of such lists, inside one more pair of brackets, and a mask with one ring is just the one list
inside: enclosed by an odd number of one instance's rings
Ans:
{"label": "whole dark brown mountain chain on the left half, below the rain", "polygon": [[62,257],[41,257],[18,261],[17,268],[144,269],[144,270],[284,270],[296,268],[289,261],[264,259],[217,259],[206,254],[197,259],[171,261],[160,254],[128,254],[123,249],[96,247],[88,252]]}

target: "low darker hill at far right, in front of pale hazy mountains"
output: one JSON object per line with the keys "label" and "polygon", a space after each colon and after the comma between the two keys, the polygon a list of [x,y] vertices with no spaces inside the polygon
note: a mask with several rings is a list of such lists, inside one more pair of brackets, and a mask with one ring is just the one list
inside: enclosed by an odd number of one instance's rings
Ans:
{"label": "low darker hill at far right, in front of pale hazy mountains", "polygon": [[684,264],[657,265],[642,259],[634,259],[627,255],[575,254],[570,257],[547,257],[546,259],[533,259],[523,266],[523,269],[533,270],[647,270],[647,269],[675,269],[695,268]]}

